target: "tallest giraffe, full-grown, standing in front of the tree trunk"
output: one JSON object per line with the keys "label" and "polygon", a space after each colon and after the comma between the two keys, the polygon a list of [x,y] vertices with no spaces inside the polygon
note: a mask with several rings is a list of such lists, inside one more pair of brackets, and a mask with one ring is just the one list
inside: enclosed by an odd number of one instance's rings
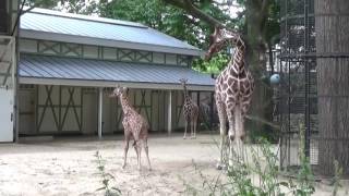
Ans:
{"label": "tallest giraffe, full-grown, standing in front of the tree trunk", "polygon": [[245,44],[240,34],[224,28],[215,28],[210,35],[209,49],[205,56],[209,60],[212,56],[230,44],[234,47],[227,68],[218,75],[215,84],[215,99],[220,124],[220,157],[217,169],[221,169],[224,159],[224,145],[226,139],[226,120],[229,121],[229,161],[231,160],[232,144],[237,144],[238,159],[243,157],[243,139],[245,136],[244,118],[251,105],[254,79],[245,68]]}

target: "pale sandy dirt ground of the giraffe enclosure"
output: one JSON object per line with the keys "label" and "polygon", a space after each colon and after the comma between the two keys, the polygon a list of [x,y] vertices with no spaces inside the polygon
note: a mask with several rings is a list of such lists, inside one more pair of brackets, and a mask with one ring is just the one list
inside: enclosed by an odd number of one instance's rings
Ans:
{"label": "pale sandy dirt ground of the giraffe enclosure", "polygon": [[[122,136],[57,138],[0,145],[0,195],[62,196],[104,195],[95,154],[106,160],[106,172],[115,176],[111,185],[122,195],[190,195],[185,184],[201,188],[203,176],[214,180],[218,155],[217,135],[201,134],[196,139],[182,135],[151,135],[149,157],[153,170],[136,170],[135,151],[130,146],[129,161],[122,169]],[[196,169],[194,167],[194,163]],[[317,185],[315,195],[330,195],[332,187]],[[344,192],[342,192],[344,193]],[[205,192],[200,195],[205,195]]]}

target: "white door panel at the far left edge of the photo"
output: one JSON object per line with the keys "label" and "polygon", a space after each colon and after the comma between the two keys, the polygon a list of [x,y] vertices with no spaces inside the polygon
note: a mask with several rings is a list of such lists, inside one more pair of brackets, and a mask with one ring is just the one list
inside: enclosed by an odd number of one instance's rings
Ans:
{"label": "white door panel at the far left edge of the photo", "polygon": [[0,36],[0,142],[13,142],[14,38]]}

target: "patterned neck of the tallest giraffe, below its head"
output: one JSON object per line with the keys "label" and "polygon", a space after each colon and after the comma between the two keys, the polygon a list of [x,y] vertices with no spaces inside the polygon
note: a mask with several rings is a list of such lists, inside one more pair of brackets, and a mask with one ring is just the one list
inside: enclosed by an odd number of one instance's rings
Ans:
{"label": "patterned neck of the tallest giraffe, below its head", "polygon": [[240,37],[236,40],[236,49],[231,54],[231,60],[229,63],[230,69],[238,74],[239,76],[245,72],[244,68],[244,54],[245,54],[245,46]]}

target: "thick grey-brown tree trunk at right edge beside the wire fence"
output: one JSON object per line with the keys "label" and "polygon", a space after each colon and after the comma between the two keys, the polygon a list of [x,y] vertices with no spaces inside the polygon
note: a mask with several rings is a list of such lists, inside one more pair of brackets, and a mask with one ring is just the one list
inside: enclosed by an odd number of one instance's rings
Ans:
{"label": "thick grey-brown tree trunk at right edge beside the wire fence", "polygon": [[[316,52],[349,53],[349,1],[314,0]],[[317,58],[318,164],[334,174],[338,160],[349,174],[349,58]]]}

